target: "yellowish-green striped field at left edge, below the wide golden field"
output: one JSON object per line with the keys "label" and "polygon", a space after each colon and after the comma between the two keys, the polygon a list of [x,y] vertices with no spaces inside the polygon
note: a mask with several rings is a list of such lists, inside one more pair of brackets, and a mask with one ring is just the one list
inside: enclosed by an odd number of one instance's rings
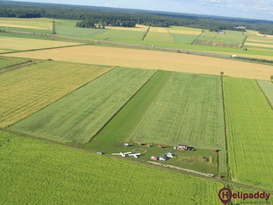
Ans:
{"label": "yellowish-green striped field at left edge, below the wide golden field", "polygon": [[0,127],[20,121],[110,69],[47,61],[0,75]]}

